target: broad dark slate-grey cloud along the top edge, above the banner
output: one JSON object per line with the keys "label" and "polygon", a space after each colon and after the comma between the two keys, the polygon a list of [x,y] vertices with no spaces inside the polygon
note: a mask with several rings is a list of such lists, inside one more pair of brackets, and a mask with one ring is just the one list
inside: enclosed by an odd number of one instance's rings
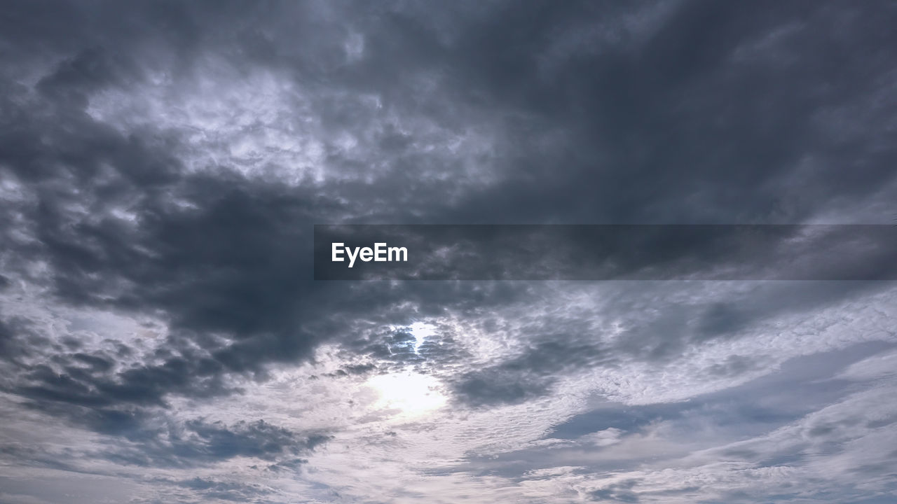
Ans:
{"label": "broad dark slate-grey cloud along the top edge, above the banner", "polygon": [[[482,221],[479,215],[493,222],[788,222],[813,213],[835,191],[873,194],[893,178],[886,161],[890,151],[882,152],[874,138],[830,142],[831,134],[815,122],[825,110],[851,107],[884,84],[875,79],[885,77],[884,48],[893,42],[886,30],[893,12],[884,4],[860,9],[691,2],[670,8],[660,27],[633,23],[633,33],[618,37],[631,44],[601,39],[601,20],[622,13],[603,13],[594,5],[492,4],[488,15],[472,12],[467,19],[468,8],[473,11],[462,4],[451,15],[414,17],[385,6],[337,4],[334,9],[346,9],[368,37],[365,58],[345,68],[309,65],[314,56],[335,59],[337,40],[323,30],[308,30],[315,43],[287,52],[278,42],[292,42],[302,30],[284,31],[260,7],[235,4],[201,15],[202,4],[154,6],[141,12],[144,17],[125,19],[145,25],[127,39],[130,44],[174,47],[184,33],[194,33],[194,43],[177,46],[192,49],[183,51],[187,55],[223,50],[253,63],[289,65],[300,76],[378,92],[399,107],[418,106],[420,100],[428,113],[449,123],[463,124],[465,117],[457,114],[488,104],[497,114],[522,111],[536,124],[565,132],[567,143],[533,152],[541,143],[532,140],[542,130],[512,129],[509,147],[518,152],[503,154],[508,157],[493,167],[507,180],[466,195],[465,204],[403,198],[403,204],[441,222]],[[300,22],[314,17],[313,8],[306,10],[297,16]],[[109,8],[100,21],[114,11]],[[266,23],[250,29],[240,19]],[[865,29],[830,34],[840,19]],[[595,29],[583,20],[594,20]],[[170,27],[168,39],[148,33],[157,22]],[[780,30],[784,35],[770,44],[781,47],[762,45]],[[583,39],[559,53],[565,33],[574,39],[582,33]],[[539,65],[552,56],[552,65]],[[790,65],[783,67],[782,59]],[[425,72],[440,78],[434,91],[421,96],[410,77]],[[352,122],[338,103],[319,104],[318,110],[331,122]],[[789,174],[802,156],[814,153],[828,161],[813,178],[803,178],[810,187],[802,194],[809,196],[800,196]],[[410,182],[396,172],[374,184],[396,181]],[[424,193],[426,186],[418,184]],[[354,183],[337,190],[361,196]],[[397,209],[391,213],[403,216]]]}

